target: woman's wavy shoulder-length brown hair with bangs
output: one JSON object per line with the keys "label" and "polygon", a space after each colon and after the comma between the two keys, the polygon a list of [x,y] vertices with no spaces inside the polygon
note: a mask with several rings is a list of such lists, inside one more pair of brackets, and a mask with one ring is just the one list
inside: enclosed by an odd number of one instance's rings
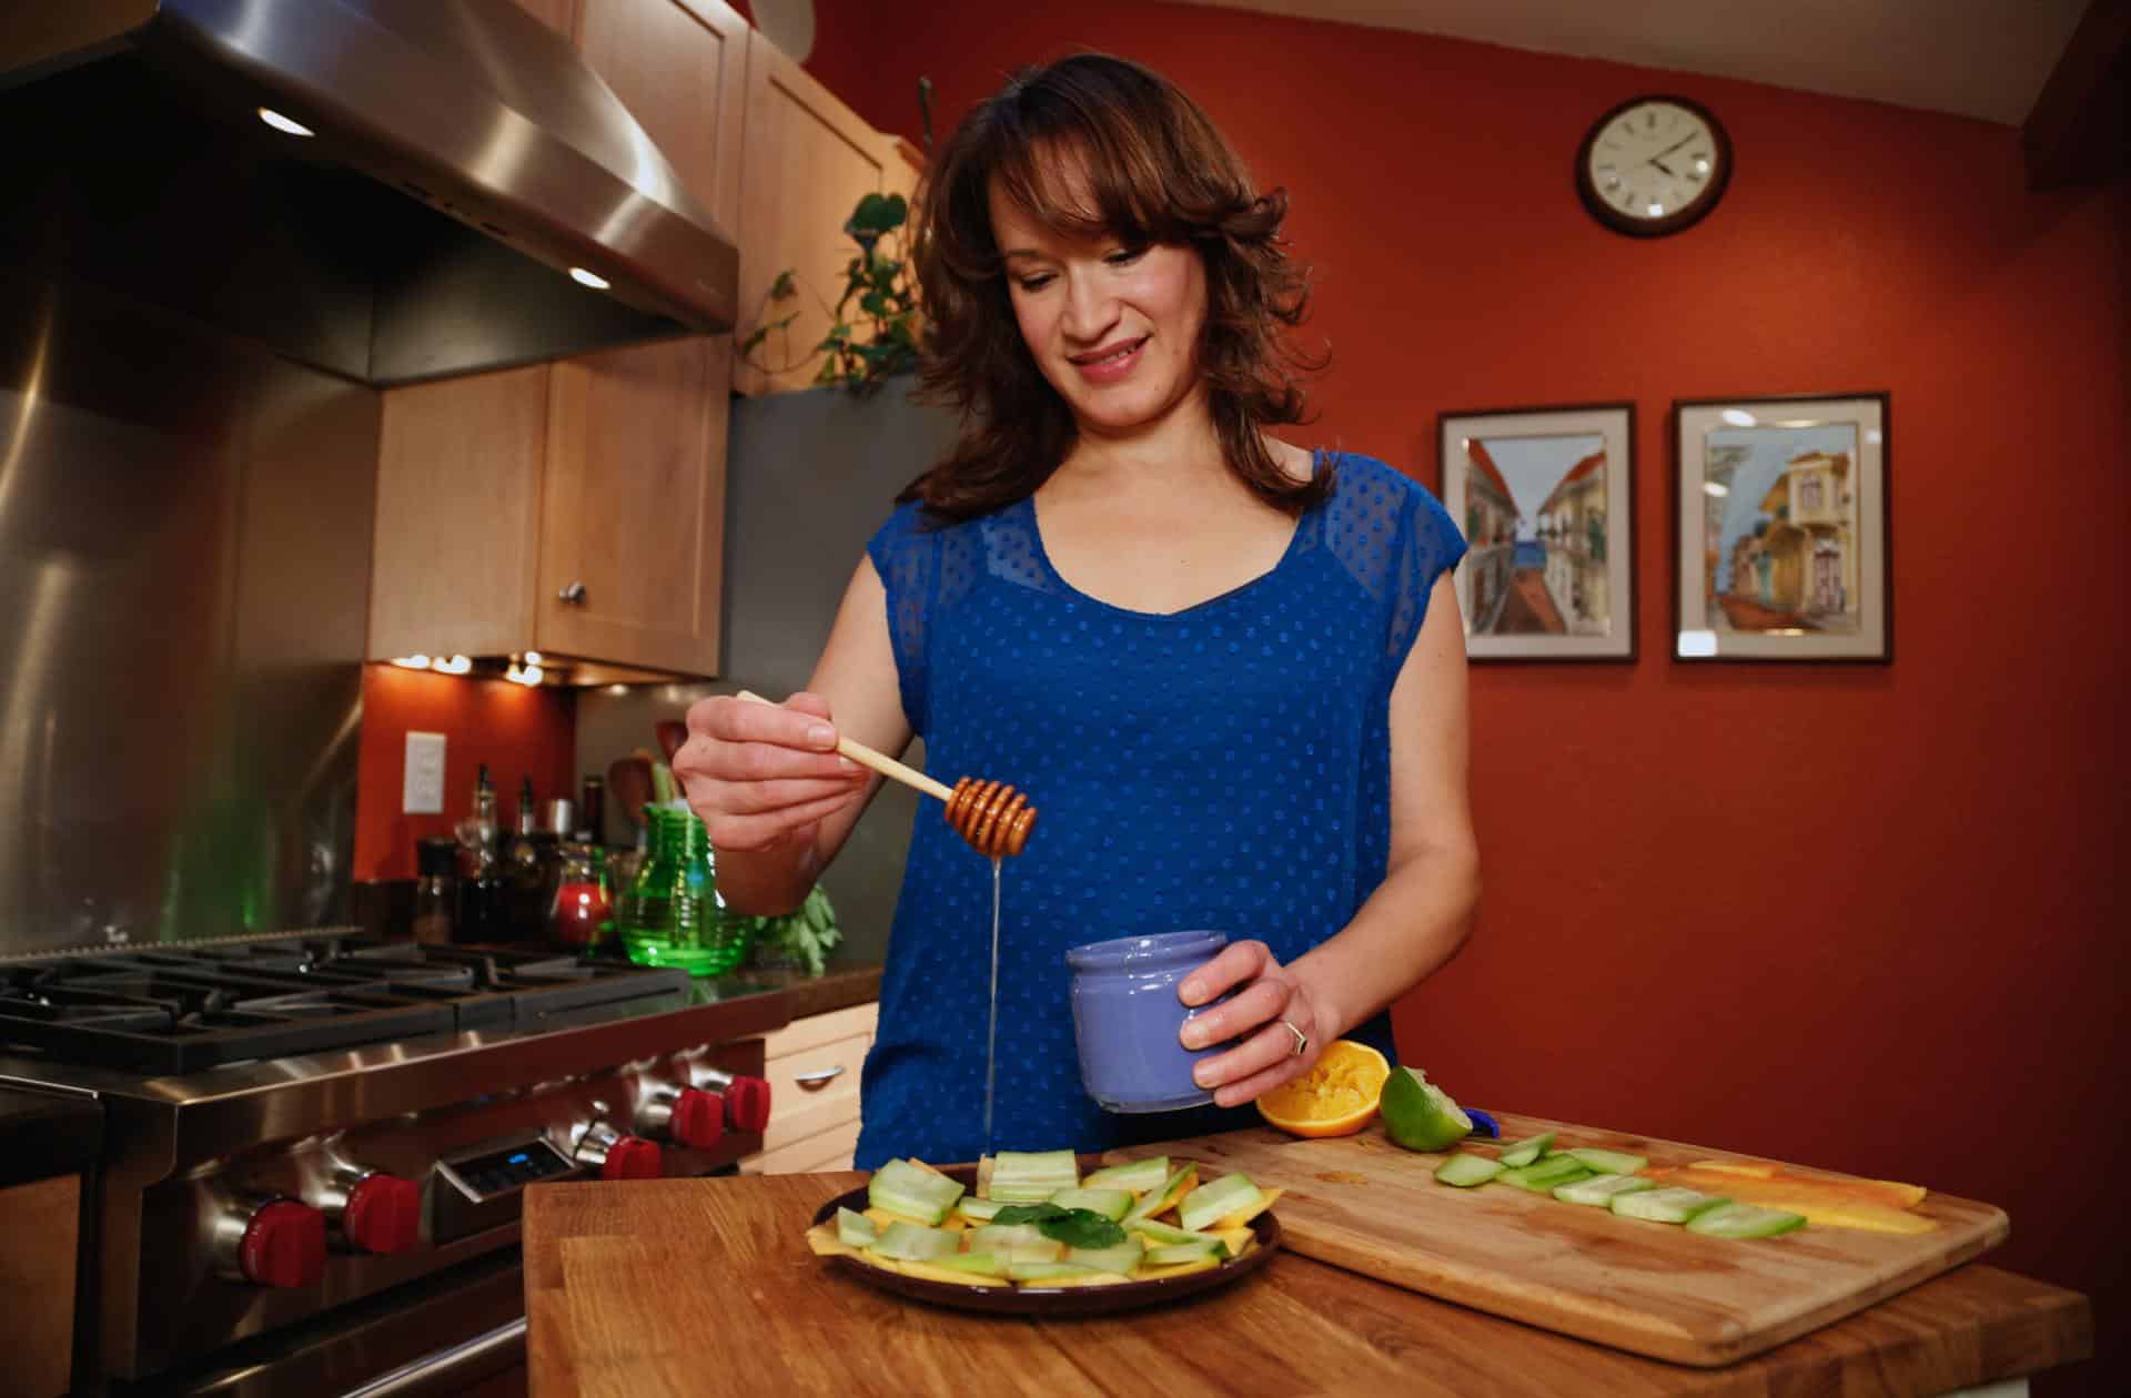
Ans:
{"label": "woman's wavy shoulder-length brown hair with bangs", "polygon": [[[1091,209],[1080,190],[1063,188],[1061,164],[1085,168]],[[1323,367],[1283,335],[1308,305],[1308,269],[1287,258],[1279,237],[1285,190],[1259,194],[1174,83],[1121,58],[1080,53],[1023,68],[972,109],[918,190],[921,396],[961,409],[963,424],[946,460],[897,499],[950,520],[999,509],[1042,486],[1076,437],[1070,407],[1014,322],[991,237],[993,181],[1059,234],[1198,249],[1206,264],[1198,364],[1230,471],[1289,514],[1325,497],[1328,467],[1296,482],[1259,435],[1306,420],[1302,375]]]}

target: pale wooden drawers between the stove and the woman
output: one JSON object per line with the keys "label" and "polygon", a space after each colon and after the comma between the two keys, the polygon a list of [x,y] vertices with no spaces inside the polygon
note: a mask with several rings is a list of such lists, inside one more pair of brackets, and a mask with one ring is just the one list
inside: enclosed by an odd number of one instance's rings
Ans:
{"label": "pale wooden drawers between the stove and the woman", "polygon": [[880,1006],[867,1002],[795,1019],[763,1038],[769,1129],[761,1155],[739,1161],[742,1174],[850,1170],[859,1147],[859,1074],[878,1023]]}

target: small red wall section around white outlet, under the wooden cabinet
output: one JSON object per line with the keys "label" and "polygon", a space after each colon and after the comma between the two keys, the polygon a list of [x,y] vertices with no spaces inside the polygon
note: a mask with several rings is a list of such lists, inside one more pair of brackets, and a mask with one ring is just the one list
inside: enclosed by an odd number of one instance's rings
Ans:
{"label": "small red wall section around white outlet, under the wooden cabinet", "polygon": [[[443,733],[443,814],[401,812],[407,733]],[[518,818],[518,782],[539,799],[575,795],[575,703],[567,690],[503,680],[362,667],[362,746],[356,752],[356,878],[413,878],[413,842],[450,835],[473,810],[488,763],[503,818]]]}

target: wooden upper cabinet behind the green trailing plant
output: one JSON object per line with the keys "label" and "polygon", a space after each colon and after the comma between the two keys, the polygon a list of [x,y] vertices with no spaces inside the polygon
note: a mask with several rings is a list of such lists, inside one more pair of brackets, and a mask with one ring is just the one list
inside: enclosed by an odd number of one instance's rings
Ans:
{"label": "wooden upper cabinet behind the green trailing plant", "polygon": [[[914,100],[914,98],[912,98]],[[782,364],[786,337],[806,356],[797,369],[765,373],[739,362],[733,388],[744,394],[810,388],[820,369],[806,352],[833,324],[829,307],[844,288],[844,266],[859,251],[844,220],[869,192],[908,198],[916,166],[904,143],[884,136],[788,60],[759,32],[748,34],[748,100],[739,194],[739,326],[746,341],[765,313],[799,313],[788,330],[771,335],[754,358]],[[906,247],[908,251],[908,247]],[[799,275],[799,298],[763,305],[778,273]]]}

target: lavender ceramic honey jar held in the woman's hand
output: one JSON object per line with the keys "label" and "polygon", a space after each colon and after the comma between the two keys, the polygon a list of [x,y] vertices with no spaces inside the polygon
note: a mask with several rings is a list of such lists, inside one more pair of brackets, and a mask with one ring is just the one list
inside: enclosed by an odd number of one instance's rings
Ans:
{"label": "lavender ceramic honey jar held in the woman's hand", "polygon": [[1176,987],[1225,944],[1221,931],[1168,931],[1066,953],[1080,1083],[1104,1110],[1172,1112],[1213,1102],[1213,1093],[1191,1080],[1191,1066],[1225,1044],[1193,1053],[1176,1042],[1187,1019],[1213,1008],[1187,1010]]}

